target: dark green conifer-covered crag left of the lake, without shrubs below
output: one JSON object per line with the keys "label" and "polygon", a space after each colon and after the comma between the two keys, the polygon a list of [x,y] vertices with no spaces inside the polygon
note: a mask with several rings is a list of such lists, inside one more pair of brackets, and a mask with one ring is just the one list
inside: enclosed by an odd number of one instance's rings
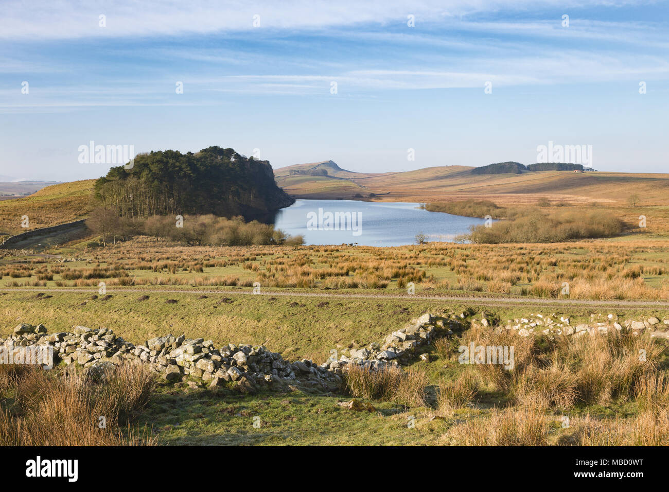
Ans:
{"label": "dark green conifer-covered crag left of the lake, without shrubs below", "polygon": [[221,147],[137,155],[132,169],[112,167],[98,179],[95,191],[104,206],[122,217],[214,214],[265,219],[294,202],[276,185],[269,161]]}

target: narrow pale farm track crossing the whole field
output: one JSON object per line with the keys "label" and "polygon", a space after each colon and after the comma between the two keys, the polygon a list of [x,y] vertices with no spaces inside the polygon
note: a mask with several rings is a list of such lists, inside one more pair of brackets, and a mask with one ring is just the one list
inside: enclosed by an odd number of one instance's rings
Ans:
{"label": "narrow pale farm track crossing the whole field", "polygon": [[[247,288],[250,289],[250,288]],[[0,289],[0,292],[43,292],[43,293],[84,293],[97,294],[98,289],[39,289],[11,287]],[[522,297],[456,297],[439,295],[387,295],[387,294],[330,294],[330,293],[308,293],[308,292],[285,292],[264,290],[258,294],[252,291],[211,291],[202,289],[114,289],[107,288],[106,293],[138,293],[138,294],[217,294],[217,295],[262,295],[272,297],[317,297],[324,299],[395,299],[401,301],[448,301],[460,303],[477,303],[491,306],[505,307],[516,305],[542,305],[542,306],[601,306],[615,307],[617,309],[637,309],[638,307],[669,307],[669,301],[599,301],[591,299],[541,299]]]}

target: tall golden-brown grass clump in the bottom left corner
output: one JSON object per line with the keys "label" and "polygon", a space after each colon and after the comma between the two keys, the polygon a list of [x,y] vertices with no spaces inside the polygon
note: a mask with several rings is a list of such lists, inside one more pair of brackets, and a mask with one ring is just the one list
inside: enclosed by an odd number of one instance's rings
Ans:
{"label": "tall golden-brown grass clump in the bottom left corner", "polygon": [[126,423],[121,419],[140,410],[151,396],[154,379],[148,371],[119,365],[100,381],[72,368],[5,371],[0,375],[3,394],[13,394],[13,405],[0,408],[0,445],[155,445],[157,438],[147,428],[125,434],[120,428]]}

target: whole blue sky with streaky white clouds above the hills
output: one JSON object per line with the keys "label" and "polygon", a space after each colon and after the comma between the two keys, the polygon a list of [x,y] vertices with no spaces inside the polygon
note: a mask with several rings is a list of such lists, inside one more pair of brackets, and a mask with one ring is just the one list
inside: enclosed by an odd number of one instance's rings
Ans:
{"label": "whole blue sky with streaky white clouds above the hills", "polygon": [[90,142],[368,173],[529,164],[552,142],[599,171],[669,172],[667,1],[0,9],[0,180],[100,177],[115,164],[83,159]]}

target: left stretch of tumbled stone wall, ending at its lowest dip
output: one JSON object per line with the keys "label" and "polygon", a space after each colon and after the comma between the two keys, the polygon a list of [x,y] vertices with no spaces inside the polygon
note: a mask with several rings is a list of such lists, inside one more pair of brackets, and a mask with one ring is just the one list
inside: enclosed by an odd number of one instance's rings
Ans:
{"label": "left stretch of tumbled stone wall, ending at its lowest dip", "polygon": [[44,325],[18,325],[13,335],[0,343],[5,347],[52,345],[54,363],[78,363],[83,367],[131,361],[145,363],[168,382],[181,382],[186,376],[209,386],[237,382],[253,389],[258,386],[298,384],[303,387],[334,390],[341,376],[308,360],[290,363],[264,346],[224,345],[215,348],[211,340],[187,339],[185,335],[165,335],[134,345],[108,328],[77,326],[73,331],[47,334]]}

